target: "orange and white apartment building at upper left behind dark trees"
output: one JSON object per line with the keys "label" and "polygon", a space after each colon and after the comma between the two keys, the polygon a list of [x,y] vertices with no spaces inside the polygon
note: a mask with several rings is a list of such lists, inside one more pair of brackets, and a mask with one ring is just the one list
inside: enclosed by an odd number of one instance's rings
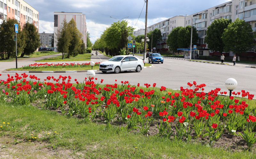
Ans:
{"label": "orange and white apartment building at upper left behind dark trees", "polygon": [[23,27],[26,22],[38,29],[38,11],[23,0],[0,0],[0,23],[8,18],[15,18]]}

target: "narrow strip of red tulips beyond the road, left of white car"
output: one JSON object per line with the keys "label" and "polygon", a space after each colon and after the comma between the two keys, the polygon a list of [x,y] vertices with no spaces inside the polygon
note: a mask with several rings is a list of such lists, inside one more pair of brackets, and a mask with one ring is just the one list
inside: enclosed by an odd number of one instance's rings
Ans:
{"label": "narrow strip of red tulips beyond the road, left of white car", "polygon": [[[96,62],[94,66],[100,66],[100,62]],[[82,64],[75,64],[75,63],[34,63],[28,66],[22,66],[22,69],[37,69],[37,68],[73,68],[73,67],[80,67],[80,68],[91,68],[92,66],[89,63],[82,63]]]}

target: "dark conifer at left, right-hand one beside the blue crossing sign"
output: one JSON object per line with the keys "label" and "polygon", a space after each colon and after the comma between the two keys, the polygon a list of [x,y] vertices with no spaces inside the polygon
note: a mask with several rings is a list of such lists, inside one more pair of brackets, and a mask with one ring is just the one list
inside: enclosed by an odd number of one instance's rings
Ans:
{"label": "dark conifer at left, right-hand one beside the blue crossing sign", "polygon": [[23,30],[25,31],[27,38],[26,47],[24,48],[24,51],[21,53],[20,57],[32,54],[40,46],[39,34],[34,24],[27,22],[23,27]]}

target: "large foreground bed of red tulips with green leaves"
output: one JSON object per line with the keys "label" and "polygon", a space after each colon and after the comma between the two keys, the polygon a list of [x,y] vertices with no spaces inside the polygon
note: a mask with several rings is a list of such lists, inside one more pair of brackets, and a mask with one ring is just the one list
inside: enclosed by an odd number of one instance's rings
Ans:
{"label": "large foreground bed of red tulips with green leaves", "polygon": [[219,95],[227,94],[220,88],[204,92],[206,85],[195,81],[188,83],[188,88],[171,92],[164,86],[156,88],[156,83],[141,87],[140,83],[135,86],[128,81],[102,85],[103,79],[97,80],[85,78],[79,83],[75,79],[76,83],[70,83],[70,76],[48,76],[42,82],[36,76],[16,73],[0,81],[0,101],[27,105],[44,99],[42,109],[58,109],[68,116],[101,121],[106,129],[119,123],[121,130],[173,140],[201,139],[209,146],[223,134],[241,136],[249,150],[256,141],[254,95],[244,90],[233,92],[238,97],[227,98]]}

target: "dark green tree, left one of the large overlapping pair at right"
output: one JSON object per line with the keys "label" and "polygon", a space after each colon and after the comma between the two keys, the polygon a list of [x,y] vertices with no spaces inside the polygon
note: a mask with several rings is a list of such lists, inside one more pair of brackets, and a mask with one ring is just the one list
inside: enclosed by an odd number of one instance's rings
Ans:
{"label": "dark green tree, left one of the large overlapping pair at right", "polygon": [[220,18],[214,20],[207,28],[204,42],[208,44],[210,50],[218,51],[222,54],[225,45],[221,36],[229,23],[231,23],[231,20]]}

